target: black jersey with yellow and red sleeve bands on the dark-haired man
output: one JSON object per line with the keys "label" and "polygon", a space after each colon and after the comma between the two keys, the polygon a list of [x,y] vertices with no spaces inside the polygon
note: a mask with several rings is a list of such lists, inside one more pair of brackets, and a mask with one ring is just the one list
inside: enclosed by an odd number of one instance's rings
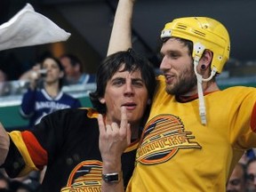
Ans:
{"label": "black jersey with yellow and red sleeve bands on the dark-haired man", "polygon": [[[47,165],[45,192],[100,191],[98,114],[92,108],[58,110],[44,116],[31,131],[10,132],[6,172],[16,177]],[[137,146],[138,140],[132,142],[122,156],[124,186],[132,176]]]}

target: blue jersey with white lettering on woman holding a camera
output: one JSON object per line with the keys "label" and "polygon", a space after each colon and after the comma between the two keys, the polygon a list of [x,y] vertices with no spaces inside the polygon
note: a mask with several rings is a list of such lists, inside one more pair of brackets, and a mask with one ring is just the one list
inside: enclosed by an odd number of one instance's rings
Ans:
{"label": "blue jersey with white lettering on woman holding a camera", "polygon": [[80,108],[79,100],[60,91],[55,98],[52,98],[44,89],[32,91],[28,89],[22,98],[20,115],[29,118],[28,127],[38,124],[41,118],[56,110],[63,108]]}

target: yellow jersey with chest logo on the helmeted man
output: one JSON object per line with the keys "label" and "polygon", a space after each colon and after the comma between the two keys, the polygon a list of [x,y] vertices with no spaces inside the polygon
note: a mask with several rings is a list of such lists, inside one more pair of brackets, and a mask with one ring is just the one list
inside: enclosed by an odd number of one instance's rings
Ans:
{"label": "yellow jersey with chest logo on the helmeted man", "polygon": [[204,126],[198,99],[178,101],[165,92],[164,76],[158,80],[126,191],[226,191],[244,150],[256,147],[256,89],[205,94]]}

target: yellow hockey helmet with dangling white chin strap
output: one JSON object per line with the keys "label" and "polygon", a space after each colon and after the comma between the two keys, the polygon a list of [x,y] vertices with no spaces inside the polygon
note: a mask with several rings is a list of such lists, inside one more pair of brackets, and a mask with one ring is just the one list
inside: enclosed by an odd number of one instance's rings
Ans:
{"label": "yellow hockey helmet with dangling white chin strap", "polygon": [[[192,55],[194,60],[194,72],[197,79],[197,91],[199,100],[199,115],[202,124],[206,124],[206,111],[204,107],[202,82],[212,80],[212,77],[220,73],[223,66],[229,58],[230,42],[227,29],[217,20],[205,17],[189,17],[173,20],[165,24],[161,33],[161,39],[169,39],[171,37],[180,38],[184,41],[192,42]],[[212,62],[207,66],[211,68],[211,74],[204,78],[202,73],[197,71],[199,60],[203,57],[204,51],[212,52]],[[201,70],[205,70],[206,66],[201,65]],[[190,89],[190,87],[188,87]],[[217,88],[218,89],[218,88]],[[174,92],[175,95],[180,92]],[[185,92],[186,93],[186,92]]]}

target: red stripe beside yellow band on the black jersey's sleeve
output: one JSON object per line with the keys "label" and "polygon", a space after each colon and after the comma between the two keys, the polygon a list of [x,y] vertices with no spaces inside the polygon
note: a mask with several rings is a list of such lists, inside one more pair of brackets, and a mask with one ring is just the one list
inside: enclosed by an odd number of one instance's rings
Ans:
{"label": "red stripe beside yellow band on the black jersey's sleeve", "polygon": [[28,153],[38,169],[43,169],[44,165],[48,162],[48,156],[46,150],[36,140],[35,135],[32,132],[21,132],[22,139],[28,148]]}

